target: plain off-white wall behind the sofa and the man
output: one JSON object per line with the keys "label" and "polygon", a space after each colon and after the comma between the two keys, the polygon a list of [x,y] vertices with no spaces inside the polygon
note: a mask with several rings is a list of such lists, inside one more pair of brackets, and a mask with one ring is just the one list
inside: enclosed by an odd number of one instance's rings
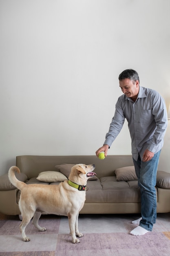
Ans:
{"label": "plain off-white wall behind the sofa and the man", "polygon": [[[126,68],[168,108],[169,10],[169,0],[0,0],[0,174],[16,155],[95,155]],[[127,123],[109,154],[131,154]]]}

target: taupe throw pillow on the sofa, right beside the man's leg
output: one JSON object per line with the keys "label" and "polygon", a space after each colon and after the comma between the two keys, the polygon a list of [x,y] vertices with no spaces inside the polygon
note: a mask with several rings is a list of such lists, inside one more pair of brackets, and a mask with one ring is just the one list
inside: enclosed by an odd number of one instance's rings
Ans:
{"label": "taupe throw pillow on the sofa, right beside the man's leg", "polygon": [[135,166],[126,166],[115,170],[117,181],[137,180]]}

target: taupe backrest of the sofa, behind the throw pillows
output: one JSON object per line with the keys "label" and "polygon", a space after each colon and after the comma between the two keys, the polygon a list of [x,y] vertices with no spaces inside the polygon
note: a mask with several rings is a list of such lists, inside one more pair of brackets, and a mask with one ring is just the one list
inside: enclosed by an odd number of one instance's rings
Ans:
{"label": "taupe backrest of the sofa, behind the throw pillows", "polygon": [[38,177],[38,174],[42,171],[56,171],[55,166],[59,164],[95,164],[95,173],[100,178],[114,176],[116,168],[132,166],[133,161],[131,155],[108,155],[104,160],[98,159],[95,155],[20,155],[16,157],[16,166],[29,179]]}

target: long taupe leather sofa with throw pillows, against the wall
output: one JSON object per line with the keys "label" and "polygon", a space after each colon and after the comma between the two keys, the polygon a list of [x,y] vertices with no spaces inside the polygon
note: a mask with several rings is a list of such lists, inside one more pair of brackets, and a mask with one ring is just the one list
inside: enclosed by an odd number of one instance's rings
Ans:
{"label": "long taupe leather sofa with throw pillows, against the wall", "polygon": [[[59,184],[68,179],[74,164],[95,164],[95,177],[88,180],[86,201],[80,214],[140,213],[140,189],[131,155],[41,156],[20,155],[16,177],[26,184]],[[157,213],[170,212],[170,173],[157,172]],[[82,193],[85,193],[82,191]],[[8,173],[0,176],[0,213],[20,215],[20,191],[11,184]]]}

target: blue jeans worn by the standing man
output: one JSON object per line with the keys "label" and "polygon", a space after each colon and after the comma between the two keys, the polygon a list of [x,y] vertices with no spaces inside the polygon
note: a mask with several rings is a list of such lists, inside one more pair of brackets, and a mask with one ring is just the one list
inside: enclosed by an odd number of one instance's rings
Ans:
{"label": "blue jeans worn by the standing man", "polygon": [[153,224],[157,218],[157,196],[156,196],[156,179],[159,155],[157,152],[148,162],[142,162],[138,156],[137,161],[133,159],[138,186],[141,190],[141,217],[139,226],[148,231],[152,231]]}

